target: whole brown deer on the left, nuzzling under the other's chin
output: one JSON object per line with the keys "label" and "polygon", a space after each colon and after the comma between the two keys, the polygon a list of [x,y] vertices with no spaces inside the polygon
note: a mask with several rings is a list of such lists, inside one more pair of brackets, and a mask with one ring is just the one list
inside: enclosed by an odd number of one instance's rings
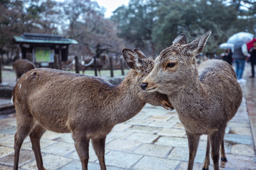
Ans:
{"label": "whole brown deer on the left, nuzzling under the other's chin", "polygon": [[46,130],[72,133],[82,169],[87,169],[92,140],[100,169],[106,169],[105,139],[114,125],[132,118],[146,103],[172,110],[165,94],[149,94],[140,88],[139,83],[151,72],[154,60],[134,51],[122,51],[132,69],[117,86],[97,77],[56,69],[33,69],[24,74],[13,92],[17,117],[14,169],[18,169],[21,145],[28,135],[38,169],[45,169],[40,138]]}

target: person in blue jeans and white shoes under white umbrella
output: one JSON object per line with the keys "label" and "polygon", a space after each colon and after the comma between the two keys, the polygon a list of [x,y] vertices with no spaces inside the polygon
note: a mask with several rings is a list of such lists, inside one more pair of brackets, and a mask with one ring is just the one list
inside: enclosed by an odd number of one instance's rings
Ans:
{"label": "person in blue jeans and white shoes under white umbrella", "polygon": [[233,59],[235,60],[235,74],[238,77],[238,82],[245,83],[246,80],[242,79],[242,74],[245,69],[245,59],[247,57],[247,46],[243,44],[240,47],[235,48],[233,53]]}

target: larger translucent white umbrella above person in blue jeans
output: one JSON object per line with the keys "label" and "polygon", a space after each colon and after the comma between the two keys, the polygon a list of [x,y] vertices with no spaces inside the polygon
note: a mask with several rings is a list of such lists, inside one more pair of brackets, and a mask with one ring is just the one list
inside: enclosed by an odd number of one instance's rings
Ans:
{"label": "larger translucent white umbrella above person in blue jeans", "polygon": [[245,33],[245,32],[240,32],[240,33],[235,33],[232,35],[230,38],[228,38],[228,43],[232,43],[235,45],[235,48],[241,47],[242,44],[252,40],[253,34],[251,33]]}

